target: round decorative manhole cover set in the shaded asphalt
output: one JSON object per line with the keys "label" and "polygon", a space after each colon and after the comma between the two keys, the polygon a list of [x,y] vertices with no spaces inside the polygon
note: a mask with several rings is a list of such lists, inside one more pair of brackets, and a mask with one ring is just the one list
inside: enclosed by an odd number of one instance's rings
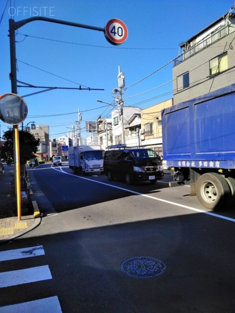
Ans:
{"label": "round decorative manhole cover set in the shaded asphalt", "polygon": [[128,276],[135,278],[152,278],[164,273],[166,266],[158,259],[148,256],[137,256],[120,265],[121,270]]}

